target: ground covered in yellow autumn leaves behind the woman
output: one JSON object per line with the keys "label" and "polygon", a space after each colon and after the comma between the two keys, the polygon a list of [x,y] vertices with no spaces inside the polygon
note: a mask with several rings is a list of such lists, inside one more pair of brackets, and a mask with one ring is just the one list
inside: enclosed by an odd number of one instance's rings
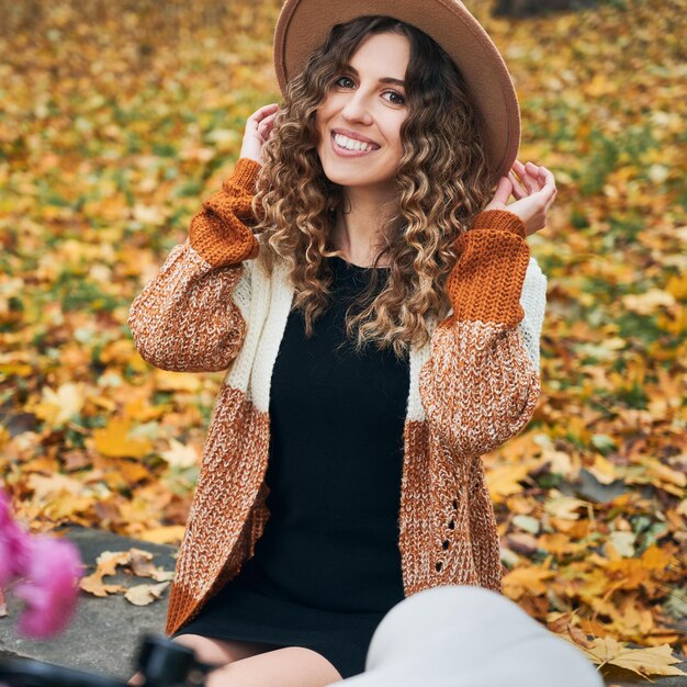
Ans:
{"label": "ground covered in yellow autumn leaves behind the woman", "polygon": [[[222,375],[151,369],[126,316],[280,99],[280,3],[133,4],[0,0],[0,474],[35,530],[178,543]],[[528,239],[542,397],[484,458],[505,593],[597,656],[684,653],[687,0],[468,4],[514,77],[518,157],[559,188]]]}

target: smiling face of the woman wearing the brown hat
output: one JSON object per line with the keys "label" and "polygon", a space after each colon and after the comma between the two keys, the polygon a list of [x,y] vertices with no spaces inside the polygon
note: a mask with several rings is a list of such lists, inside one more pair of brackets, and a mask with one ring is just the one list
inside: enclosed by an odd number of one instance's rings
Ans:
{"label": "smiling face of the woman wearing the brown hat", "polygon": [[409,56],[404,35],[372,34],[335,77],[316,115],[317,153],[330,181],[393,193],[408,113],[403,81]]}

